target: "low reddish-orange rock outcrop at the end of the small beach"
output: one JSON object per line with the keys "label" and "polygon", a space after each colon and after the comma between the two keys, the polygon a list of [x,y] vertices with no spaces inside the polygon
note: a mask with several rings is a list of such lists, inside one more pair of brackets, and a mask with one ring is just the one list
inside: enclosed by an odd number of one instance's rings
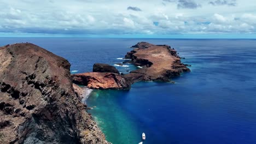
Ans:
{"label": "low reddish-orange rock outcrop at the end of the small beach", "polygon": [[83,73],[72,75],[73,82],[91,89],[130,89],[125,77],[115,73]]}

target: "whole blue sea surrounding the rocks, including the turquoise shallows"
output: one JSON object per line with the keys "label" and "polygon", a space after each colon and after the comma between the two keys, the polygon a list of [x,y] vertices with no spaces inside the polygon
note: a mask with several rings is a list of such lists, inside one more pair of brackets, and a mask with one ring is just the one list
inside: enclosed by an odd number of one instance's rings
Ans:
{"label": "whole blue sea surrounding the rocks, including the turquoise shallows", "polygon": [[[62,56],[72,73],[114,65],[140,41],[174,47],[190,73],[176,83],[138,82],[130,91],[93,91],[87,104],[114,143],[256,143],[256,40],[1,38],[30,42]],[[121,72],[136,69],[125,64]]]}

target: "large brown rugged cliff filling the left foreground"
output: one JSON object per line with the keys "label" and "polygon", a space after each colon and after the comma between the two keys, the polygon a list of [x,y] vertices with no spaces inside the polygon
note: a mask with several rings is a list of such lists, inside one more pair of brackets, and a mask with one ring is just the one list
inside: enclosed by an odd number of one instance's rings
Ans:
{"label": "large brown rugged cliff filling the left foreground", "polygon": [[74,93],[69,67],[33,44],[0,47],[0,143],[108,143]]}

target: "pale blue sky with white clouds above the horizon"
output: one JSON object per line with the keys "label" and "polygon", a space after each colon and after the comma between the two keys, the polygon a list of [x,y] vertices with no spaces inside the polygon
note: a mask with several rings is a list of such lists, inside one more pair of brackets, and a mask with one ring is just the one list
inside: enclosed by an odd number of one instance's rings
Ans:
{"label": "pale blue sky with white clouds above the horizon", "polygon": [[255,0],[0,0],[0,34],[255,34],[255,8]]}

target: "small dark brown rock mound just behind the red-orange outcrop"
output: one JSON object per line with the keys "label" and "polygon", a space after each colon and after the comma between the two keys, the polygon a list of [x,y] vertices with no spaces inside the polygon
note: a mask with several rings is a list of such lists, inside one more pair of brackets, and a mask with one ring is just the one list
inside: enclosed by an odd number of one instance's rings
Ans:
{"label": "small dark brown rock mound just behind the red-orange outcrop", "polygon": [[103,63],[95,63],[92,69],[93,72],[97,73],[116,73],[119,74],[117,68],[113,67],[112,65],[103,64]]}

